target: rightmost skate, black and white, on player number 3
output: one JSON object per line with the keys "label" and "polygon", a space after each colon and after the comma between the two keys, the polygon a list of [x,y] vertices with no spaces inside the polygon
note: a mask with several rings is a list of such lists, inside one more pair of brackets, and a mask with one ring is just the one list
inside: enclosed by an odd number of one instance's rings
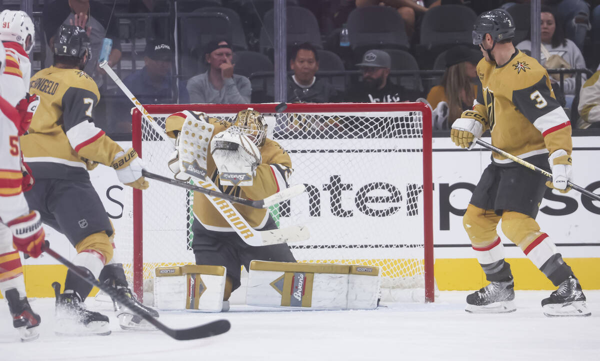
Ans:
{"label": "rightmost skate, black and white, on player number 3", "polygon": [[542,309],[548,317],[589,316],[592,314],[586,305],[586,296],[575,276],[569,276],[553,291],[550,297],[542,300]]}

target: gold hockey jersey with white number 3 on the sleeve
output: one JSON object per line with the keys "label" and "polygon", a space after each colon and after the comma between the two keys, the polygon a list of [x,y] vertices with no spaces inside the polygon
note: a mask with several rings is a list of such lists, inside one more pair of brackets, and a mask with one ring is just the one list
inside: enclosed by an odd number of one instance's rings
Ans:
{"label": "gold hockey jersey with white number 3 on the sleeve", "polygon": [[[548,72],[517,50],[502,67],[484,59],[477,65],[482,87],[473,110],[484,116],[491,143],[528,158],[565,149],[571,155],[571,122],[554,97]],[[512,163],[493,153],[496,163]]]}

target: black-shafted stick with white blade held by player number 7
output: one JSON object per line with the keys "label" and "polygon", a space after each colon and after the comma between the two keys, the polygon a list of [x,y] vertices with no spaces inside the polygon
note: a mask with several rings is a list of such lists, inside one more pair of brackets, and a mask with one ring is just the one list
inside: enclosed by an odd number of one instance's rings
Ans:
{"label": "black-shafted stick with white blade held by player number 7", "polygon": [[161,175],[157,175],[155,173],[148,172],[147,170],[142,170],[142,176],[145,176],[149,179],[158,180],[159,182],[169,183],[181,188],[189,189],[190,191],[196,191],[206,195],[210,195],[211,197],[217,197],[224,200],[232,201],[233,203],[245,204],[253,208],[267,208],[274,204],[295,197],[296,195],[299,195],[302,192],[304,192],[306,189],[306,186],[304,184],[296,184],[290,186],[289,188],[283,189],[282,191],[277,192],[273,195],[269,195],[269,197],[266,197],[264,199],[249,200],[245,198],[235,197],[235,195],[214,191],[212,189],[206,189],[201,186],[191,185],[190,183],[182,182],[181,180],[167,178]]}

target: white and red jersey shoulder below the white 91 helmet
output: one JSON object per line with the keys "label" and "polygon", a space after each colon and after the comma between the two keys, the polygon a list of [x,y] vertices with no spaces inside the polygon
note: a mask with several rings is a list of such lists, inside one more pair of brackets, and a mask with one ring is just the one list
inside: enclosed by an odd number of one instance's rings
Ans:
{"label": "white and red jersey shoulder below the white 91 helmet", "polygon": [[0,95],[14,107],[29,91],[31,62],[19,43],[7,41],[4,43],[4,49],[6,69],[4,74],[0,75]]}

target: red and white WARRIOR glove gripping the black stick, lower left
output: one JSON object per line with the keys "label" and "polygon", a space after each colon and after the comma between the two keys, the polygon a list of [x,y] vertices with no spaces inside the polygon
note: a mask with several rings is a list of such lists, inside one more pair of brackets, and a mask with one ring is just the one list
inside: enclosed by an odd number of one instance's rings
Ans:
{"label": "red and white WARRIOR glove gripping the black stick, lower left", "polygon": [[41,225],[40,212],[32,210],[28,215],[15,218],[7,225],[13,232],[13,246],[17,251],[34,258],[41,254],[46,233]]}

